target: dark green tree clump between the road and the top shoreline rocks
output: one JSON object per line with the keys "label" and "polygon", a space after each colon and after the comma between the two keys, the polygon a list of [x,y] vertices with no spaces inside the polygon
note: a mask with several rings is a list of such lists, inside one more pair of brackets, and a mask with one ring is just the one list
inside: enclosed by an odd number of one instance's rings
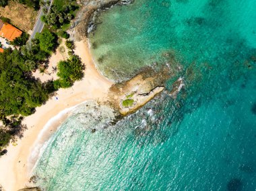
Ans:
{"label": "dark green tree clump between the road and the top shoreline rocks", "polygon": [[53,2],[50,12],[43,15],[41,20],[51,28],[60,29],[70,23],[77,9],[77,3],[74,0],[57,0]]}

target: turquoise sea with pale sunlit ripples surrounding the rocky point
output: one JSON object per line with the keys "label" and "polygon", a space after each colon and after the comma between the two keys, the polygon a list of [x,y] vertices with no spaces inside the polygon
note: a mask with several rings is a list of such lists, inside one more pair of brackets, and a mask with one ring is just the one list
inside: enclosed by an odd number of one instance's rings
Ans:
{"label": "turquoise sea with pale sunlit ripples surrounding the rocky point", "polygon": [[[90,36],[114,81],[169,65],[185,82],[110,125],[77,107],[34,168],[44,190],[256,190],[256,1],[135,0],[103,11]],[[177,70],[177,65],[182,68]],[[92,133],[91,129],[96,128]]]}

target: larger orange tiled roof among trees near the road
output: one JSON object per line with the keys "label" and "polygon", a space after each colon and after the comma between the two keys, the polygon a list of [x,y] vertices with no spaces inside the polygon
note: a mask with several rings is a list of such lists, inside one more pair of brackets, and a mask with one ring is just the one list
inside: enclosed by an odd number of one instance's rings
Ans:
{"label": "larger orange tiled roof among trees near the road", "polygon": [[18,30],[11,24],[3,24],[3,27],[0,30],[0,36],[7,38],[10,41],[13,41],[15,38],[20,37],[22,35],[22,31]]}

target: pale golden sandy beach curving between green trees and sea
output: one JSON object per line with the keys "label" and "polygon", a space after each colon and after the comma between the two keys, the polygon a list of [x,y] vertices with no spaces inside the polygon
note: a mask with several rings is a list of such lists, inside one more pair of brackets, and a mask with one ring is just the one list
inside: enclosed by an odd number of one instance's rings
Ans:
{"label": "pale golden sandy beach curving between green trees and sea", "polygon": [[[24,137],[18,140],[18,145],[9,145],[7,155],[0,158],[0,184],[6,191],[16,191],[26,186],[29,177],[28,159],[31,149],[40,134],[40,131],[54,116],[66,108],[71,108],[81,104],[86,100],[103,100],[112,82],[103,77],[94,66],[87,42],[75,42],[75,54],[79,55],[86,64],[85,76],[82,81],[75,82],[69,89],[57,91],[59,100],[52,98],[43,106],[36,108],[36,113],[24,119],[24,124],[28,129],[24,132]],[[65,113],[65,112],[64,112]],[[67,117],[68,112],[55,121],[55,124],[47,131],[47,139],[56,129],[58,124]],[[33,161],[34,162],[34,161]]]}

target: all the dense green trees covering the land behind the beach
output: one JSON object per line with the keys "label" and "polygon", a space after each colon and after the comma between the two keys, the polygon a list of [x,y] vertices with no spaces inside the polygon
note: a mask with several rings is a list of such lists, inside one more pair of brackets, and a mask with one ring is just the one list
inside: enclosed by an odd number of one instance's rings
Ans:
{"label": "all the dense green trees covering the land behind the beach", "polygon": [[[17,1],[34,9],[40,8],[40,5],[43,7],[45,3],[39,0],[9,1]],[[0,6],[7,4],[8,0],[0,0]],[[42,18],[49,25],[40,34],[37,33],[30,44],[26,44],[28,34],[23,33],[11,42],[16,47],[14,50],[8,48],[0,53],[0,155],[7,152],[2,149],[11,140],[22,137],[26,129],[22,125],[24,116],[33,114],[35,108],[49,100],[57,89],[71,87],[84,77],[85,66],[74,54],[75,44],[71,40],[65,43],[69,49],[69,59],[57,65],[59,79],[42,83],[32,75],[32,71],[47,67],[49,57],[59,45],[58,36],[69,38],[65,28],[69,26],[76,9],[73,0],[53,1],[51,11]],[[53,17],[57,19],[56,22],[53,22]]]}

